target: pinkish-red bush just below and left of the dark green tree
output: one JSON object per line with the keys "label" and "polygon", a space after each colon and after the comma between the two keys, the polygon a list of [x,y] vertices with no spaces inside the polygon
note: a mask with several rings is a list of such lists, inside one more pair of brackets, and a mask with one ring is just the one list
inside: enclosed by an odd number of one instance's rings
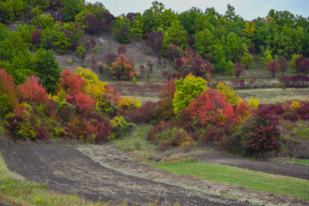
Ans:
{"label": "pinkish-red bush just below and left of the dark green tree", "polygon": [[39,78],[36,76],[28,76],[25,83],[19,85],[21,91],[21,100],[29,103],[41,104],[47,101],[48,95],[46,88],[39,83]]}

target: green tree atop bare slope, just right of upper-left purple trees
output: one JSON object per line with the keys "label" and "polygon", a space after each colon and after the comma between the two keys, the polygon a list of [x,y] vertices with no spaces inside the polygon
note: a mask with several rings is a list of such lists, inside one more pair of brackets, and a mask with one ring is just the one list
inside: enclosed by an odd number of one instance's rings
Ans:
{"label": "green tree atop bare slope, just right of upper-left purple trees", "polygon": [[126,17],[117,17],[114,27],[114,34],[118,41],[128,43],[132,36],[130,20]]}

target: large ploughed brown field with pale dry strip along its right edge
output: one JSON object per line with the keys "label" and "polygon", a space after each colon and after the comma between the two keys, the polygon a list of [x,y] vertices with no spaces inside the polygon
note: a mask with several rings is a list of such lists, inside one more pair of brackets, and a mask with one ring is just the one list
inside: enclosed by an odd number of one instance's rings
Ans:
{"label": "large ploughed brown field with pale dry strip along its right edge", "polygon": [[3,152],[8,168],[25,179],[46,183],[52,190],[88,200],[147,205],[160,196],[160,204],[249,205],[222,196],[204,194],[166,183],[123,174],[96,163],[70,146],[16,146]]}

